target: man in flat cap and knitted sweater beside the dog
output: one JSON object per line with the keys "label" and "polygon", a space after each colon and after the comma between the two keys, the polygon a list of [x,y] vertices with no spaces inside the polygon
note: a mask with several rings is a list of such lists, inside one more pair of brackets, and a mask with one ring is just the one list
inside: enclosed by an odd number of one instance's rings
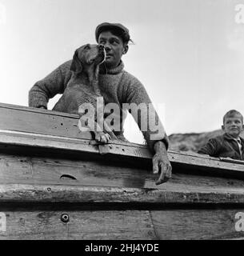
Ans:
{"label": "man in flat cap and knitted sweater beside the dog", "polygon": [[[149,107],[151,101],[144,86],[138,78],[124,70],[124,63],[121,59],[122,55],[129,50],[129,30],[119,23],[104,22],[97,26],[95,38],[99,45],[104,46],[106,51],[106,59],[99,66],[98,77],[102,97],[105,104],[116,103],[120,110],[120,117],[122,117],[120,119],[121,129],[114,131],[114,134],[118,139],[126,140],[123,135],[123,123],[126,118],[125,111],[122,109],[124,104],[129,104],[129,106],[131,104],[135,104],[135,106],[146,104],[148,112],[138,114],[136,117],[134,116],[134,119],[142,131],[147,146],[154,154],[153,171],[154,174],[159,174],[156,184],[166,182],[171,178],[172,170],[167,156],[169,139],[158,114]],[[72,75],[71,62],[72,60],[63,63],[46,78],[34,84],[29,92],[29,106],[46,109],[49,98],[53,98],[56,94],[63,94]],[[154,114],[150,114],[150,112],[154,112]],[[151,117],[154,117],[154,120]],[[146,122],[148,129],[142,129],[143,122],[144,124]],[[152,122],[158,126],[157,132],[149,129]]]}

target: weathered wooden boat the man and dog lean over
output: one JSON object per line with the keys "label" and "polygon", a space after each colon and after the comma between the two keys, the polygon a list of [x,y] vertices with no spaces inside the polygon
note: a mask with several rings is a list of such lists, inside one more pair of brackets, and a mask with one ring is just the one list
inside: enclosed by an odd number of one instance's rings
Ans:
{"label": "weathered wooden boat the man and dog lean over", "polygon": [[146,146],[98,145],[76,115],[1,104],[0,118],[0,239],[244,238],[243,162],[169,152],[156,186]]}

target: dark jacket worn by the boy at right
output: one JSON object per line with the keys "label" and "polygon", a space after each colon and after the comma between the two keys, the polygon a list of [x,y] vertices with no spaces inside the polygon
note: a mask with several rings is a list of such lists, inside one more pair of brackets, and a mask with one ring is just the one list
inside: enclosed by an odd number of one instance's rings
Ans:
{"label": "dark jacket worn by the boy at right", "polygon": [[241,138],[242,143],[242,155],[239,150],[238,142],[234,140],[230,134],[223,134],[216,138],[210,138],[198,151],[199,154],[208,154],[211,157],[233,158],[238,160],[244,160],[244,140]]}

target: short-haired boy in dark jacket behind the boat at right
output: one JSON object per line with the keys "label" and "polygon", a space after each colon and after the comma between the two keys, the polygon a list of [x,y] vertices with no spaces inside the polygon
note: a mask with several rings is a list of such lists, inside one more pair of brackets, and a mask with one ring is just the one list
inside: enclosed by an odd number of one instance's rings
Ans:
{"label": "short-haired boy in dark jacket behind the boat at right", "polygon": [[244,140],[239,136],[243,128],[242,114],[237,110],[228,111],[224,115],[222,125],[225,134],[210,138],[198,153],[208,154],[211,157],[244,160]]}

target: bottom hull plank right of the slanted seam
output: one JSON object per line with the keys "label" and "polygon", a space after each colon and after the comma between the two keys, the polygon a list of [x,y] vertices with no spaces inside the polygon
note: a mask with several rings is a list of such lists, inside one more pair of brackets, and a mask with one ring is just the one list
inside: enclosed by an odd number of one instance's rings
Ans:
{"label": "bottom hull plank right of the slanted seam", "polygon": [[221,210],[152,210],[158,239],[233,239],[244,238],[236,231],[235,214],[244,209]]}

